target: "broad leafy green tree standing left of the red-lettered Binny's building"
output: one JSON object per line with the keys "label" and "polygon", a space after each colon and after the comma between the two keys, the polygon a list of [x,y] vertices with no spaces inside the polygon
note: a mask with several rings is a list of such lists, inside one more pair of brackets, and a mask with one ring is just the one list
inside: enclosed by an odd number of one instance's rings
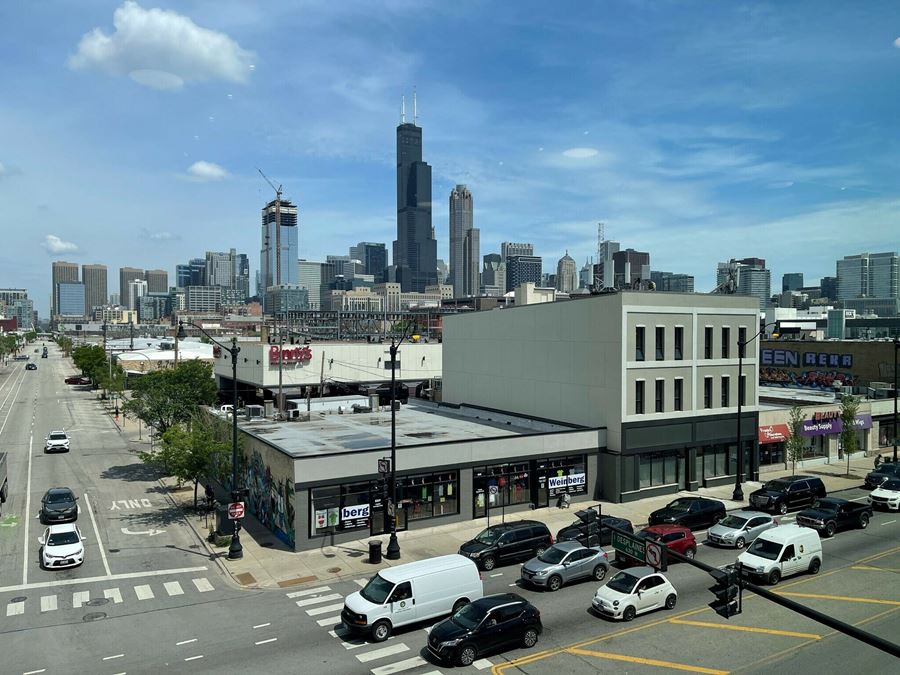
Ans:
{"label": "broad leafy green tree standing left of the red-lettered Binny's building", "polygon": [[138,378],[125,403],[126,415],[137,417],[160,434],[187,424],[197,407],[216,400],[212,365],[197,359],[181,361],[173,370],[154,370]]}

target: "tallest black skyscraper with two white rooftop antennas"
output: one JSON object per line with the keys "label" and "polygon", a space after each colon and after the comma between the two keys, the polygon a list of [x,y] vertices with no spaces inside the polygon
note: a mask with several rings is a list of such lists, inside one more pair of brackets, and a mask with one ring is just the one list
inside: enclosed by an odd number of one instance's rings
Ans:
{"label": "tallest black skyscraper with two white rooftop antennas", "polygon": [[422,128],[406,122],[402,104],[397,127],[397,239],[394,265],[403,292],[437,284],[437,241],[431,226],[431,167],[422,161]]}

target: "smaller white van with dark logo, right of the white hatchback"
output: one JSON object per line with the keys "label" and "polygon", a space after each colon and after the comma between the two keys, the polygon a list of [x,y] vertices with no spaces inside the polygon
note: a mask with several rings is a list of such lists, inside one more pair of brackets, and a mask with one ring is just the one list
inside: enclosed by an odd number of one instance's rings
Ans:
{"label": "smaller white van with dark logo, right of the white hatchback", "polygon": [[822,567],[822,541],[812,528],[779,525],[759,535],[737,562],[744,576],[774,585],[792,574],[818,574]]}

